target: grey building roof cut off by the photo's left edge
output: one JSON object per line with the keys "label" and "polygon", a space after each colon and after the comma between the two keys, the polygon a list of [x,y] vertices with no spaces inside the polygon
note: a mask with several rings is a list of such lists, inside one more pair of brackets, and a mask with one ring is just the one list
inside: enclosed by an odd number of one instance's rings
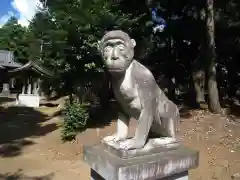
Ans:
{"label": "grey building roof cut off by the photo's left edge", "polygon": [[14,61],[12,51],[0,50],[0,68],[4,67],[21,67],[22,65]]}

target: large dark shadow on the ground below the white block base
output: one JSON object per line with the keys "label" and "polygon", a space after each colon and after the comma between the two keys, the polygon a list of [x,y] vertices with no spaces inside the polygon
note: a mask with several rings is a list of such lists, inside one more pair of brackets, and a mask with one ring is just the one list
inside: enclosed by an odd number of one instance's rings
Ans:
{"label": "large dark shadow on the ground below the white block base", "polygon": [[41,125],[49,117],[34,108],[0,106],[0,156],[21,154],[24,146],[34,144],[29,137],[44,136],[57,129],[57,124]]}

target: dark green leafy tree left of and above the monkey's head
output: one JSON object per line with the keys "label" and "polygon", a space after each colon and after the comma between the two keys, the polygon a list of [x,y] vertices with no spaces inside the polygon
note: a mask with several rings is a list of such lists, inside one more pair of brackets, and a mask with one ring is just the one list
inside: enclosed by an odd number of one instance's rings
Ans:
{"label": "dark green leafy tree left of and above the monkey's head", "polygon": [[42,54],[36,56],[41,56],[41,63],[57,75],[55,87],[70,94],[82,94],[104,84],[99,83],[104,73],[97,42],[106,31],[117,28],[136,32],[137,17],[104,0],[49,0],[29,27],[35,37],[33,49],[40,47],[40,41],[43,44]]}

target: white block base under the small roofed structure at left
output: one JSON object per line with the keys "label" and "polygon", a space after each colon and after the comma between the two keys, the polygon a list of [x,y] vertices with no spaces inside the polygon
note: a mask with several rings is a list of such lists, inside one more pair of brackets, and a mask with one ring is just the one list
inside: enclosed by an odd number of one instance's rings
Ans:
{"label": "white block base under the small roofed structure at left", "polygon": [[40,97],[33,94],[19,94],[16,99],[16,105],[27,107],[39,107]]}

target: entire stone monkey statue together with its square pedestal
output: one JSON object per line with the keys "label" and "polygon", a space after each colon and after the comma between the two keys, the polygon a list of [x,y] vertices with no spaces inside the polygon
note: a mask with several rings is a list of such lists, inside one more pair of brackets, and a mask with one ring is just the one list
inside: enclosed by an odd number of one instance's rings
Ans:
{"label": "entire stone monkey statue together with its square pedestal", "polygon": [[[187,180],[188,170],[198,166],[198,152],[177,140],[178,107],[133,59],[135,45],[119,30],[109,31],[99,43],[120,112],[117,132],[84,147],[84,160],[93,180]],[[138,123],[134,137],[128,138],[131,117]]]}

